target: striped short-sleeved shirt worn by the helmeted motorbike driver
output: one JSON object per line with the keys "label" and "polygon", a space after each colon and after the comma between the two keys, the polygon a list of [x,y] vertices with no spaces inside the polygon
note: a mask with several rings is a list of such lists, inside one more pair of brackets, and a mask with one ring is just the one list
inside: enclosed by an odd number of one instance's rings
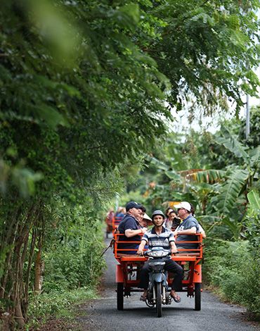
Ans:
{"label": "striped short-sleeved shirt worn by the helmeted motorbike driver", "polygon": [[171,230],[162,227],[162,232],[160,235],[157,235],[155,232],[155,227],[152,227],[151,230],[145,232],[142,240],[148,243],[149,249],[152,247],[162,247],[164,249],[170,248],[170,242],[175,242],[174,234]]}

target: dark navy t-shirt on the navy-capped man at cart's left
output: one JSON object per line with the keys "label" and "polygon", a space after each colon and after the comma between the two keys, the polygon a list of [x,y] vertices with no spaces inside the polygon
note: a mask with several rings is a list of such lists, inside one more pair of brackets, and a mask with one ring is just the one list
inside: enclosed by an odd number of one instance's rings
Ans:
{"label": "dark navy t-shirt on the navy-capped man at cart's left", "polygon": [[[119,223],[118,225],[118,230],[119,233],[124,234],[124,232],[126,230],[138,230],[141,229],[141,226],[139,225],[138,221],[136,220],[136,218],[134,218],[134,216],[131,216],[129,214],[126,214],[124,216],[124,218],[122,219],[122,221]],[[119,236],[119,242],[140,242],[141,241],[141,236],[140,235],[136,235],[134,237],[126,237],[124,236]],[[138,246],[138,244],[134,244],[134,243],[122,243],[122,244],[118,244],[118,248],[122,249],[122,248],[127,248],[127,249],[136,249],[136,246]],[[119,253],[127,253],[127,251],[123,252],[123,251],[119,251]]]}

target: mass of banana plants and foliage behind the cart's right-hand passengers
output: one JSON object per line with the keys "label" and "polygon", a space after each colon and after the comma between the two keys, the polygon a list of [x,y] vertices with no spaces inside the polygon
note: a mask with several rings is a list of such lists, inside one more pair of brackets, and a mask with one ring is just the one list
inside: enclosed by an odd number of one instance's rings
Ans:
{"label": "mass of banana plants and foliage behind the cart's right-hand passengers", "polygon": [[[221,238],[240,238],[245,232],[242,218],[247,192],[259,190],[260,158],[258,147],[250,148],[240,141],[239,126],[239,120],[226,120],[216,134],[192,131],[184,141],[176,134],[169,135],[164,153],[155,150],[147,157],[153,173],[145,175],[154,184],[145,187],[146,204],[160,208],[166,201],[190,201],[199,206],[196,216],[214,236],[219,232]],[[221,146],[219,151],[216,143]],[[223,159],[223,168],[211,168],[217,157]],[[215,226],[219,230],[215,231]]]}

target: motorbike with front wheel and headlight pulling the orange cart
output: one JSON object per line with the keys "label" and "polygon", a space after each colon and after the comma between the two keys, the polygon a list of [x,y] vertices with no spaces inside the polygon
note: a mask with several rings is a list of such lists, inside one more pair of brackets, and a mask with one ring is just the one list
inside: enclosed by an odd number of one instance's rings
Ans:
{"label": "motorbike with front wheel and headlight pulling the orange cart", "polygon": [[171,255],[171,251],[153,247],[145,251],[144,255],[148,256],[150,266],[148,296],[145,304],[151,308],[155,306],[157,317],[162,317],[162,304],[171,304],[171,296],[168,293],[168,273],[164,270],[165,261]]}

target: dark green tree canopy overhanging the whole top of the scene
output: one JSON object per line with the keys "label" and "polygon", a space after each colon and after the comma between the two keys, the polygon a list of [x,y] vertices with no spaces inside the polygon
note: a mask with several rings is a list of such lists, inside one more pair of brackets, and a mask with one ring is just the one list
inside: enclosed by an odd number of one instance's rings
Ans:
{"label": "dark green tree canopy overhanging the whole top of the scene", "polygon": [[[57,153],[67,154],[62,166],[73,173],[77,164],[79,174],[125,154],[135,160],[164,132],[164,101],[210,110],[229,97],[242,106],[242,93],[255,94],[258,84],[258,7],[245,0],[3,4],[1,120],[18,159],[41,170],[19,132],[44,146],[47,130]],[[4,158],[10,139],[1,144]]]}

